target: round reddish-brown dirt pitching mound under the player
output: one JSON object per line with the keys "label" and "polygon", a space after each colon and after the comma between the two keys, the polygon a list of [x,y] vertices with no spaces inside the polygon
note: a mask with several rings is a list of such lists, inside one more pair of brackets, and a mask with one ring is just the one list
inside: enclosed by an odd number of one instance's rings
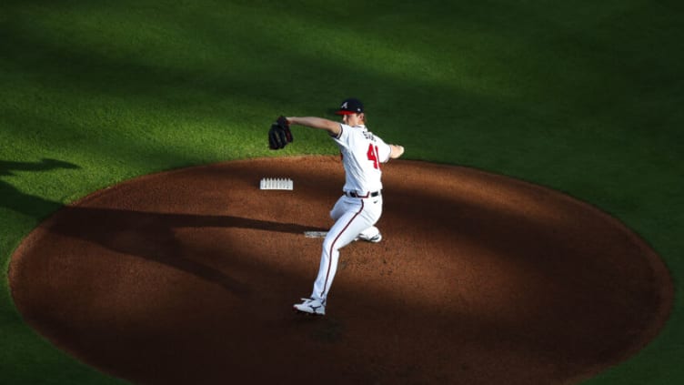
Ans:
{"label": "round reddish-brown dirt pitching mound under the player", "polygon": [[16,307],[79,360],[153,384],[568,383],[629,358],[669,315],[661,260],[599,210],[463,167],[384,170],[384,239],[342,249],[325,318],[291,307],[316,277],[321,239],[304,232],[331,225],[336,157],[98,191],[16,250]]}

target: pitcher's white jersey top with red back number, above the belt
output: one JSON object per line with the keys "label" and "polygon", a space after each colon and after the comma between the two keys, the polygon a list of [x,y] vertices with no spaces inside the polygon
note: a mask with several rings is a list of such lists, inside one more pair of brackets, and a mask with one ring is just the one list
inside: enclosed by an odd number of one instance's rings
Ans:
{"label": "pitcher's white jersey top with red back number, above the belt", "polygon": [[340,124],[341,131],[333,140],[337,142],[345,167],[346,181],[343,189],[360,195],[382,189],[381,163],[387,163],[391,148],[366,126]]}

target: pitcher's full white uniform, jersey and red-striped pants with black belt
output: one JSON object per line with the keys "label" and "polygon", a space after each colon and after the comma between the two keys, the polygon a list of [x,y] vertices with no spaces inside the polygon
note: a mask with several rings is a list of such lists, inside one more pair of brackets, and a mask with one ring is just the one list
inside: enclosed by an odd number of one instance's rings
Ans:
{"label": "pitcher's full white uniform, jersey and red-striped pants with black belt", "polygon": [[372,238],[379,233],[373,225],[382,214],[380,164],[389,160],[391,152],[387,143],[363,125],[340,124],[340,127],[341,132],[333,140],[337,142],[345,167],[344,195],[330,211],[330,217],[336,222],[323,240],[320,267],[311,295],[323,304],[337,272],[339,249],[360,234]]}

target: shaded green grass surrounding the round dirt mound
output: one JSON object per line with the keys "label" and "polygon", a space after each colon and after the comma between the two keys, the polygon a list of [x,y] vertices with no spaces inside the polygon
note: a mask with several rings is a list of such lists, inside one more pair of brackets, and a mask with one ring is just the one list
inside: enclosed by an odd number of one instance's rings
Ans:
{"label": "shaded green grass surrounding the round dirt mound", "polygon": [[[267,126],[357,96],[406,157],[556,188],[647,239],[671,270],[675,309],[645,350],[588,383],[684,382],[682,11],[637,0],[5,1],[0,264],[61,205],[132,177],[332,154],[325,136],[297,128],[293,146],[270,152]],[[25,326],[0,282],[0,382],[117,382]]]}

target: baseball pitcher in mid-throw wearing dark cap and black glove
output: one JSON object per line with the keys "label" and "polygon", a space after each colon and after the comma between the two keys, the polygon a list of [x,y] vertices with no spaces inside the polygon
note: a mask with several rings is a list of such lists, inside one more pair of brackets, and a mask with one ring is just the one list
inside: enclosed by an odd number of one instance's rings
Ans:
{"label": "baseball pitcher in mid-throw wearing dark cap and black glove", "polygon": [[339,249],[357,239],[374,243],[382,239],[374,226],[382,214],[381,165],[404,154],[404,147],[389,145],[368,131],[364,106],[358,99],[344,100],[337,115],[342,116],[342,123],[321,117],[279,117],[268,133],[269,146],[278,149],[292,142],[290,125],[322,129],[337,143],[342,155],[343,195],[330,211],[335,224],[323,241],[311,297],[294,305],[298,312],[317,316],[326,314],[327,294],[337,272]]}

